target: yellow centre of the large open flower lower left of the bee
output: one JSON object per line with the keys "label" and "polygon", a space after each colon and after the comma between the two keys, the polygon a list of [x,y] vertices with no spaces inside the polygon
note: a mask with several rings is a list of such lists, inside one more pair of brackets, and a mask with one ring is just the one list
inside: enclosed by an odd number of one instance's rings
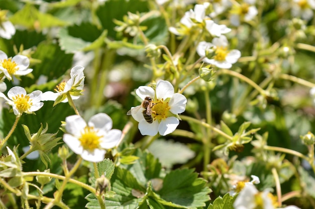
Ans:
{"label": "yellow centre of the large open flower lower left of the bee", "polygon": [[100,147],[101,136],[97,135],[97,131],[94,127],[86,127],[79,138],[82,147],[85,150],[93,151]]}

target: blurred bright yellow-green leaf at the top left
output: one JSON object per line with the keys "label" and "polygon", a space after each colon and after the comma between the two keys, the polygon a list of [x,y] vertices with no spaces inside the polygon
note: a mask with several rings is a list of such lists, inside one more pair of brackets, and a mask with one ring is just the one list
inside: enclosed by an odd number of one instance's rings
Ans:
{"label": "blurred bright yellow-green leaf at the top left", "polygon": [[44,29],[57,26],[66,26],[68,23],[61,21],[50,14],[39,12],[34,6],[26,4],[24,8],[15,13],[10,21],[28,29]]}

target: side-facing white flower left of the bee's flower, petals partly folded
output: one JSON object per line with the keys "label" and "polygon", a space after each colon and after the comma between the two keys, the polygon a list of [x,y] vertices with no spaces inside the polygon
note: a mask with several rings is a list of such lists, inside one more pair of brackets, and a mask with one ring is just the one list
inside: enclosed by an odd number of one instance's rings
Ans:
{"label": "side-facing white flower left of the bee's flower, petals partly folded", "polygon": [[84,67],[80,65],[74,66],[70,71],[70,79],[67,82],[61,82],[57,85],[56,93],[46,91],[42,95],[42,101],[55,101],[54,105],[59,102],[68,102],[67,93],[69,92],[72,99],[78,99],[82,95],[84,87]]}

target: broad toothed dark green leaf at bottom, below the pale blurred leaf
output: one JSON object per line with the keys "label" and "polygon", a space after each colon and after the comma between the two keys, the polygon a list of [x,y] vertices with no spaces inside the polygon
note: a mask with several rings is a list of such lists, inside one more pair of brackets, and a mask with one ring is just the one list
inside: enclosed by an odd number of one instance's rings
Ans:
{"label": "broad toothed dark green leaf at bottom, below the pale blurred leaf", "polygon": [[198,178],[193,169],[174,170],[163,181],[163,188],[158,192],[165,201],[185,208],[204,207],[210,200],[206,181]]}

